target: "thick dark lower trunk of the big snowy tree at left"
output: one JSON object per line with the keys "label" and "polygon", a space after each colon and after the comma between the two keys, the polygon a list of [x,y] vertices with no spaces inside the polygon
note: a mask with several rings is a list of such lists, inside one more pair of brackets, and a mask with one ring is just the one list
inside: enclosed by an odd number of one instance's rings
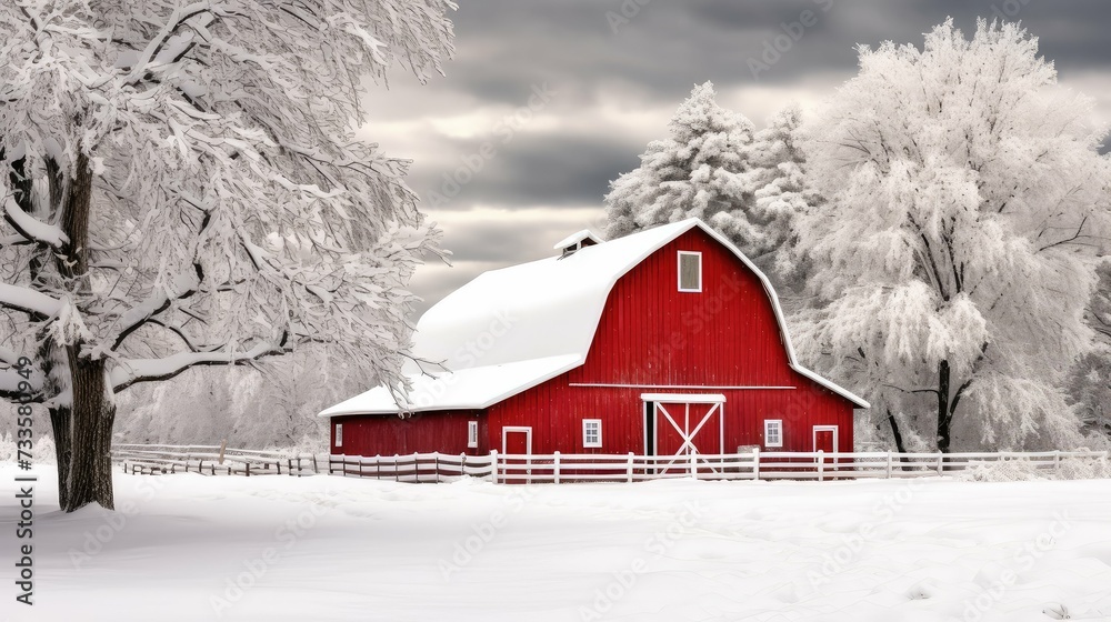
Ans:
{"label": "thick dark lower trunk of the big snowy tree at left", "polygon": [[73,439],[69,494],[64,510],[89,503],[114,509],[112,498],[112,424],[116,403],[104,382],[104,359],[80,354],[81,343],[69,348],[73,379]]}

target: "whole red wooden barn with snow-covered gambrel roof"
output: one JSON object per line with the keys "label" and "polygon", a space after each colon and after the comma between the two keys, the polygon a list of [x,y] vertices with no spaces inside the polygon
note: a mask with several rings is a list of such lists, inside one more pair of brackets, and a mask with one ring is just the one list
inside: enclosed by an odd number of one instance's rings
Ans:
{"label": "whole red wooden barn with snow-covered gambrel roof", "polygon": [[868,403],[795,360],[767,277],[692,219],[492,270],[417,324],[408,401],[321,415],[333,453],[852,451]]}

